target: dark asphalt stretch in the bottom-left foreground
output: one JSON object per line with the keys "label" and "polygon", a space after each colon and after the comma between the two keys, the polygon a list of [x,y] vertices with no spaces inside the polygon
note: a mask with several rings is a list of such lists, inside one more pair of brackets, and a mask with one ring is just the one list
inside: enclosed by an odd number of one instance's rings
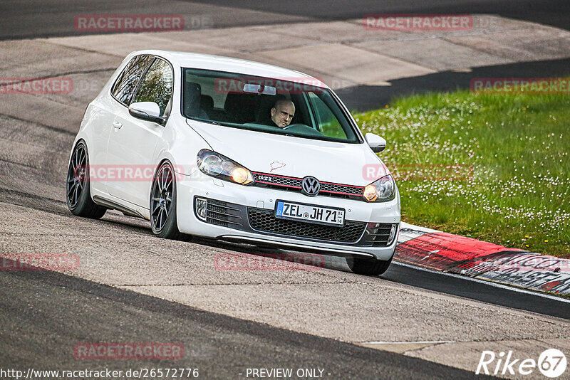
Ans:
{"label": "dark asphalt stretch in the bottom-left foreground", "polygon": [[[78,364],[69,342],[122,339],[181,342],[186,355],[176,366],[199,368],[206,379],[237,379],[248,367],[319,368],[328,379],[475,378],[430,361],[202,312],[59,273],[2,273],[0,283],[3,315],[9,313],[2,321],[3,367],[73,369]],[[81,364],[82,369],[147,366],[143,361]],[[153,366],[171,365],[155,361]]]}

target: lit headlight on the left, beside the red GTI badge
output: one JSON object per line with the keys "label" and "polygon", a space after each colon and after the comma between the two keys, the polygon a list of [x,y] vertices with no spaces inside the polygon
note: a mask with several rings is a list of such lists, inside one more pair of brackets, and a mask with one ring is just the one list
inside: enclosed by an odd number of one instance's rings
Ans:
{"label": "lit headlight on the left, beside the red GTI badge", "polygon": [[234,160],[211,150],[202,149],[198,152],[196,160],[198,169],[209,176],[242,185],[251,184],[254,181],[251,171]]}

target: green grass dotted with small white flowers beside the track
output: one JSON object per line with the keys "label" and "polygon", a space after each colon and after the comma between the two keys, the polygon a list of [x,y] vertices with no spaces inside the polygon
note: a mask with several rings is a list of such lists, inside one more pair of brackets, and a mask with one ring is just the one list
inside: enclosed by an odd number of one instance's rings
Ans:
{"label": "green grass dotted with small white flowers beside the track", "polygon": [[388,141],[403,221],[570,257],[570,96],[414,95],[355,119]]}

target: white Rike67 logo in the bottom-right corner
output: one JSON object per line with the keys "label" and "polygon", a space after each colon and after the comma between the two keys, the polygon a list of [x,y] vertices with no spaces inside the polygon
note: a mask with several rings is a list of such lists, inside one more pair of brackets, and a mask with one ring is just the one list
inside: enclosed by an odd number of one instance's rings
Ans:
{"label": "white Rike67 logo in the bottom-right corner", "polygon": [[529,375],[538,369],[541,374],[551,379],[566,371],[566,356],[559,349],[546,349],[538,360],[516,359],[512,351],[507,353],[483,351],[475,374],[492,375]]}

